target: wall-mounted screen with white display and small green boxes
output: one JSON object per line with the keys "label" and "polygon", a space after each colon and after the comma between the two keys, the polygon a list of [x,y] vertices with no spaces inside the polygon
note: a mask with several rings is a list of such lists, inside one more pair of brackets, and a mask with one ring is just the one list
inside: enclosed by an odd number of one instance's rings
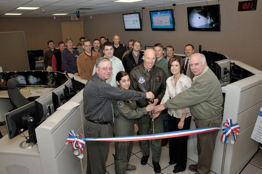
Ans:
{"label": "wall-mounted screen with white display and small green boxes", "polygon": [[140,12],[123,14],[125,31],[142,31]]}

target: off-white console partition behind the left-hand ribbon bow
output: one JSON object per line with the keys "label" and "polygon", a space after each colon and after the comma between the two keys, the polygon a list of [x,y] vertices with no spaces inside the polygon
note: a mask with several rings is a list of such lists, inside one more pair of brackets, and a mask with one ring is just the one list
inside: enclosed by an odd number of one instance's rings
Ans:
{"label": "off-white console partition behind the left-hand ribbon bow", "polygon": [[[71,145],[65,141],[70,130],[83,134],[83,90],[70,101],[80,104],[71,110],[58,109],[45,122],[35,129],[43,173],[81,172],[80,158],[73,154]],[[86,163],[86,150],[83,164]]]}

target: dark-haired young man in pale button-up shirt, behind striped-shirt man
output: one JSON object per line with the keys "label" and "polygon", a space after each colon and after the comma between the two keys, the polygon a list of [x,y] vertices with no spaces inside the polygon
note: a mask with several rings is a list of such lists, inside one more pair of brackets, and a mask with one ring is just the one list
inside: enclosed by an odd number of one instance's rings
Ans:
{"label": "dark-haired young man in pale button-up shirt, behind striped-shirt man", "polygon": [[[117,87],[116,75],[119,71],[125,71],[125,68],[122,64],[122,61],[114,56],[114,47],[111,42],[105,42],[103,44],[103,52],[104,57],[108,58],[112,63],[112,76],[106,80],[106,83],[110,84],[111,86]],[[93,75],[96,73],[96,66],[93,69]]]}

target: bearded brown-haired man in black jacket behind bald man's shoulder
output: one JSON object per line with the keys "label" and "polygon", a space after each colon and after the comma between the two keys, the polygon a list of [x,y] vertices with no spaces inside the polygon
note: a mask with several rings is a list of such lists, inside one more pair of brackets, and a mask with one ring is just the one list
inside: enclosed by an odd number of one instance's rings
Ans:
{"label": "bearded brown-haired man in black jacket behind bald man's shoulder", "polygon": [[142,49],[141,42],[139,40],[133,42],[132,47],[133,50],[125,55],[122,60],[123,66],[127,73],[130,73],[133,68],[139,66],[144,61],[143,53],[140,51]]}

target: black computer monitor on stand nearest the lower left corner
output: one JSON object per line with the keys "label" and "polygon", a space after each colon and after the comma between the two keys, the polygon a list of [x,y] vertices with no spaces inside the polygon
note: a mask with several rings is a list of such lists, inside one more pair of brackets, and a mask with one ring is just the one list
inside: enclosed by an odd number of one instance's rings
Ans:
{"label": "black computer monitor on stand nearest the lower left corner", "polygon": [[[35,120],[37,118],[36,104],[32,102],[25,106],[22,106],[14,111],[8,112],[4,115],[6,120],[6,128],[9,139],[16,137],[19,134],[22,134],[25,130],[28,129],[28,140],[23,142],[29,143],[27,147],[32,147],[37,143],[35,135]],[[20,143],[22,147],[23,142]]]}

